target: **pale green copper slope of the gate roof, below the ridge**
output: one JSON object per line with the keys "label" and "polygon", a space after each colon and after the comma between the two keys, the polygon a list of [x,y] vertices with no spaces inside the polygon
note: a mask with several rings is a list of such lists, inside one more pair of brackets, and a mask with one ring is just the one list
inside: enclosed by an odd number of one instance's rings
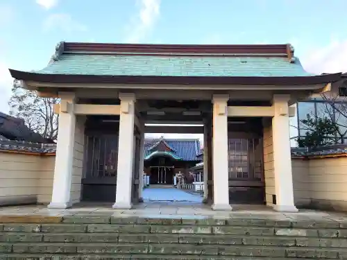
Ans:
{"label": "pale green copper slope of the gate roof, below the ridge", "polygon": [[297,58],[248,55],[247,57],[194,55],[105,55],[62,53],[35,73],[95,76],[312,76]]}

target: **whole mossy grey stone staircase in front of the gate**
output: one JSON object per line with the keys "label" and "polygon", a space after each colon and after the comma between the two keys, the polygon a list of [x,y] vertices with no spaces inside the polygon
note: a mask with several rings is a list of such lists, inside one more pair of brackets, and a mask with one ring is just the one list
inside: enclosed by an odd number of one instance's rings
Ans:
{"label": "whole mossy grey stone staircase in front of the gate", "polygon": [[0,260],[347,259],[347,223],[0,216]]}

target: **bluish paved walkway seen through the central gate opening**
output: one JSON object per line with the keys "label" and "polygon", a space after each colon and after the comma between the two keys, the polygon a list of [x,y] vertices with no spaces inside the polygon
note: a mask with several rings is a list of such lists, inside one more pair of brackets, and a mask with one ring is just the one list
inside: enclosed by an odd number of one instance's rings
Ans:
{"label": "bluish paved walkway seen through the central gate opening", "polygon": [[176,188],[147,188],[143,191],[144,202],[203,202],[200,194],[190,194]]}

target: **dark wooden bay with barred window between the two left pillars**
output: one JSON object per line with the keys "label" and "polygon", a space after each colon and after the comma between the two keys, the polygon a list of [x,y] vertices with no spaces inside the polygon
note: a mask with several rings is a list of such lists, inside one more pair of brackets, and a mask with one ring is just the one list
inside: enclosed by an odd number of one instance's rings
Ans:
{"label": "dark wooden bay with barred window between the two left pillars", "polygon": [[117,187],[119,116],[88,116],[81,200],[114,202]]}

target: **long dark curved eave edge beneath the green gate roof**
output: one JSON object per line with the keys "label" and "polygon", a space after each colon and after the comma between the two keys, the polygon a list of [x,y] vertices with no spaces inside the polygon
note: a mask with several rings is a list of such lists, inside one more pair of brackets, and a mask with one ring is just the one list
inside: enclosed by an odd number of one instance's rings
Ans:
{"label": "long dark curved eave edge beneath the green gate roof", "polygon": [[176,85],[316,85],[341,80],[341,73],[293,77],[100,76],[43,74],[9,69],[12,78],[42,83],[114,83]]}

